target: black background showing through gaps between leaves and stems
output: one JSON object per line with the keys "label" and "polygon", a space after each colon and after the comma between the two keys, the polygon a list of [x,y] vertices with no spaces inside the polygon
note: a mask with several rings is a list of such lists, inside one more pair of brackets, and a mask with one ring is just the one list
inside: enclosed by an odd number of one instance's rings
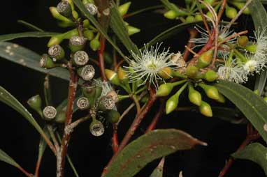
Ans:
{"label": "black background showing through gaps between leaves and stems", "polygon": [[[139,9],[152,4],[158,4],[159,1],[133,1],[130,10]],[[57,1],[5,1],[1,2],[1,28],[0,34],[17,33],[29,31],[17,20],[25,20],[36,24],[45,31],[64,31],[59,29],[55,20],[50,15],[49,7],[56,6]],[[177,24],[171,20],[166,20],[162,15],[154,13],[145,13],[130,17],[127,22],[132,26],[138,26],[142,33],[132,37],[138,46],[143,45],[148,40],[157,35],[160,31]],[[252,20],[249,17],[240,18],[241,25],[237,26],[240,31],[245,27],[251,27]],[[188,38],[187,31],[179,33],[177,36],[165,41],[164,45],[171,46],[171,51],[182,50]],[[48,38],[24,38],[13,40],[24,47],[43,54],[47,51],[46,43]],[[28,68],[23,68],[4,59],[0,59],[0,85],[12,93],[17,100],[26,105],[27,99],[32,95],[43,95],[43,78],[45,75]],[[66,98],[67,82],[61,79],[52,79],[52,94],[55,104]],[[185,101],[183,101],[185,100]],[[184,98],[180,102],[187,102]],[[127,102],[125,102],[127,103]],[[230,104],[229,104],[230,105]],[[157,105],[154,106],[150,115],[141,123],[135,137],[142,134],[152,118],[154,111],[157,111]],[[27,171],[33,172],[35,169],[36,157],[38,154],[39,134],[34,128],[25,121],[24,118],[10,107],[0,102],[1,128],[0,128],[0,148],[6,151]],[[123,121],[119,128],[119,137],[129,128],[133,119],[132,112],[128,119]],[[38,123],[42,124],[37,114],[33,113]],[[217,176],[220,169],[224,167],[226,159],[231,153],[236,151],[238,146],[245,139],[245,125],[233,125],[218,118],[206,118],[194,112],[175,112],[170,116],[164,116],[158,123],[157,128],[177,128],[184,130],[192,136],[208,143],[207,147],[196,147],[191,151],[180,151],[166,157],[164,167],[164,177],[178,176],[179,171],[183,171],[187,176]],[[110,147],[110,127],[106,128],[106,133],[102,137],[93,137],[89,132],[89,124],[84,123],[79,126],[71,138],[69,146],[69,155],[71,156],[75,167],[80,176],[100,176],[101,170],[112,155]],[[149,176],[152,169],[157,165],[152,162],[143,169],[138,176]],[[41,165],[41,176],[55,176],[55,157],[50,149],[45,151],[45,156]],[[22,176],[20,171],[9,164],[0,162],[1,174],[5,176]],[[1,176],[2,176],[1,175]],[[72,171],[67,165],[66,176],[73,176]],[[226,176],[264,176],[263,171],[257,164],[245,160],[237,160],[229,170]]]}

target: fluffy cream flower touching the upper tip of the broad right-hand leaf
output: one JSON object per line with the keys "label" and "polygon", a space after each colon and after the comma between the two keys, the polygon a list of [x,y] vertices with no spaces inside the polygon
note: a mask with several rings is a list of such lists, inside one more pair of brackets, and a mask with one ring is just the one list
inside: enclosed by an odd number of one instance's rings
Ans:
{"label": "fluffy cream flower touching the upper tip of the broad right-hand leaf", "polygon": [[230,82],[243,83],[247,81],[247,71],[236,63],[236,59],[224,58],[224,65],[219,66],[217,73],[219,79]]}

